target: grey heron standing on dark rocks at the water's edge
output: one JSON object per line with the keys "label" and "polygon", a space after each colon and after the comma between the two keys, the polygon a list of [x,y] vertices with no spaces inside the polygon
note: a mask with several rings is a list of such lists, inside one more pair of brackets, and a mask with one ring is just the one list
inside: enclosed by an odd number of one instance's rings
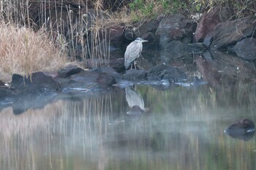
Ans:
{"label": "grey heron standing on dark rocks at the water's edge", "polygon": [[[135,61],[136,58],[140,57],[140,53],[142,51],[142,43],[148,42],[147,40],[137,38],[134,42],[131,42],[127,46],[127,50],[124,53],[124,66],[125,69],[128,69],[129,66],[133,61]],[[132,69],[132,66],[131,66]]]}

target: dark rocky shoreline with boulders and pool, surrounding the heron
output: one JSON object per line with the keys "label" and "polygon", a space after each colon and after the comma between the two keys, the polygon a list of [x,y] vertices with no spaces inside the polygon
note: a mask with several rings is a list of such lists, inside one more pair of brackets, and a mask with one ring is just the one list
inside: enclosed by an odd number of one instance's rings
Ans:
{"label": "dark rocky shoreline with boulders and pool, surrounding the heron", "polygon": [[[138,29],[116,26],[110,34],[108,67],[84,70],[67,66],[59,72],[36,72],[30,77],[12,76],[10,86],[0,82],[0,110],[12,106],[38,107],[63,92],[108,93],[116,86],[157,85],[165,89],[177,83],[208,82],[212,87],[254,81],[256,69],[256,16],[230,20],[228,9],[211,9],[197,24],[181,14],[143,23]],[[195,33],[195,34],[194,34]],[[129,39],[147,39],[140,69],[124,69],[124,47]],[[105,39],[102,39],[104,41]],[[156,58],[152,51],[157,50]],[[89,65],[88,65],[89,66]],[[202,80],[195,78],[200,73]],[[91,93],[92,92],[92,93]],[[33,107],[33,108],[34,108]],[[15,110],[15,109],[14,109]],[[16,109],[15,114],[23,110]]]}

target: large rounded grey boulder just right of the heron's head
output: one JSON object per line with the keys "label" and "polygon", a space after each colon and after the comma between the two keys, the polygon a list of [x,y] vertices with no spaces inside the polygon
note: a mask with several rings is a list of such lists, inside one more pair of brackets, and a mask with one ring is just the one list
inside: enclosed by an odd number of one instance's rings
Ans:
{"label": "large rounded grey boulder just right of the heron's head", "polygon": [[178,40],[181,42],[192,42],[192,33],[195,32],[196,23],[184,15],[175,14],[163,18],[156,32],[159,45]]}

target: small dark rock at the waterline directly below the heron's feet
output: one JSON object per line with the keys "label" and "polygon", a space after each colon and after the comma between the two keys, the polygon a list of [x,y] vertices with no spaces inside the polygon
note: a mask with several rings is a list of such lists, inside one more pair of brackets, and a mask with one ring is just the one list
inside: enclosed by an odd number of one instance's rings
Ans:
{"label": "small dark rock at the waterline directly below the heron's feet", "polygon": [[130,69],[124,74],[124,80],[143,81],[147,80],[147,72],[144,70]]}

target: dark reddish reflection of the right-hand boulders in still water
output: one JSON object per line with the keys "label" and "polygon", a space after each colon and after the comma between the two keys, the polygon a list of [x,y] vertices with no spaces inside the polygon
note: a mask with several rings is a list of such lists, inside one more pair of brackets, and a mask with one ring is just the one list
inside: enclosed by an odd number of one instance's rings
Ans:
{"label": "dark reddish reflection of the right-hand boulders in still water", "polygon": [[229,53],[206,51],[203,57],[196,55],[195,62],[203,80],[213,86],[232,85],[256,79],[253,63]]}

